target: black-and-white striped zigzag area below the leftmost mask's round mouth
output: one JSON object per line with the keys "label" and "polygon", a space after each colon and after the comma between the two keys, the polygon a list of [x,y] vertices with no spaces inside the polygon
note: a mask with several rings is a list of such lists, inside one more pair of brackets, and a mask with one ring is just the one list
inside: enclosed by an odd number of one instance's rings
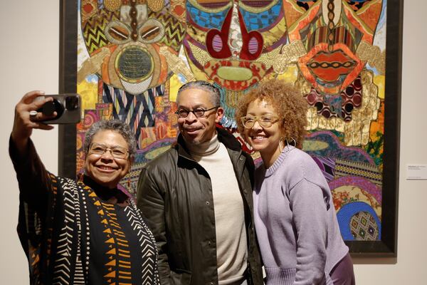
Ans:
{"label": "black-and-white striped zigzag area below the leftmost mask's round mouth", "polygon": [[140,95],[132,95],[120,88],[114,88],[104,83],[102,102],[112,103],[113,117],[116,120],[123,120],[128,123],[130,129],[135,133],[135,139],[139,141],[141,128],[154,127],[154,96],[163,94],[164,86],[148,89]]}

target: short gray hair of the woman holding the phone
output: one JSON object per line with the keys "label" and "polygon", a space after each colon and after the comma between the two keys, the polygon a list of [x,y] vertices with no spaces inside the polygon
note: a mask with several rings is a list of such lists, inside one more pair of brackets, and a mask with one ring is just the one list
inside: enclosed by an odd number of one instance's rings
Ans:
{"label": "short gray hair of the woman holding the phone", "polygon": [[135,154],[137,153],[137,140],[135,140],[135,134],[132,133],[129,125],[122,120],[99,120],[91,125],[85,134],[85,144],[83,145],[85,155],[88,155],[93,136],[102,130],[112,130],[120,133],[127,142],[130,157],[135,157]]}

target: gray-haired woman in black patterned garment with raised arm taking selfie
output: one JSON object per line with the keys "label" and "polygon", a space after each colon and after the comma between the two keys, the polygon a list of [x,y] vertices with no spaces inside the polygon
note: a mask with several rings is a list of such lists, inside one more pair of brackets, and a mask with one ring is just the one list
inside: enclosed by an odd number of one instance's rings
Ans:
{"label": "gray-haired woman in black patterned garment with raised arm taking selfie", "polygon": [[[48,172],[31,141],[51,130],[37,112],[53,98],[26,93],[15,108],[9,154],[19,182],[18,233],[31,284],[159,284],[157,250],[135,202],[117,189],[136,153],[129,126],[101,120],[85,135],[85,173]],[[41,100],[35,100],[36,98]]]}

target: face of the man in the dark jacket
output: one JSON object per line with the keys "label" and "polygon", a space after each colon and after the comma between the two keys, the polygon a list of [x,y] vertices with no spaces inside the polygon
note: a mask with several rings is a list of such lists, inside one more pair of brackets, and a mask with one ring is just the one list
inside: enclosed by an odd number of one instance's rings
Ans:
{"label": "face of the man in the dark jacket", "polygon": [[[214,108],[210,100],[210,93],[199,88],[188,88],[179,93],[178,109],[194,110]],[[197,118],[194,113],[189,113],[186,118],[178,118],[178,125],[186,143],[198,145],[211,140],[215,133],[215,125],[221,120],[223,108],[206,111],[204,116]]]}

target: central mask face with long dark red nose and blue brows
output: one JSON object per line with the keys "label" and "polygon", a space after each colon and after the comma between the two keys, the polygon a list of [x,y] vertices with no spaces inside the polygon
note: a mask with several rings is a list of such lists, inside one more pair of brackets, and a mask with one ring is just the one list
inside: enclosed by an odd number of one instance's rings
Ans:
{"label": "central mask face with long dark red nose and blue brows", "polygon": [[241,91],[273,68],[285,43],[282,2],[186,1],[186,56],[196,78]]}

